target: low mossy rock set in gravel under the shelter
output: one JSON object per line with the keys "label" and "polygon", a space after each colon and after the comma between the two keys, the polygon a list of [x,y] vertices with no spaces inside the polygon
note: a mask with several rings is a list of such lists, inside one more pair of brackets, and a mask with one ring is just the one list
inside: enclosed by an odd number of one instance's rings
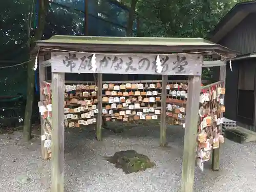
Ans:
{"label": "low mossy rock set in gravel under the shelter", "polygon": [[137,173],[155,166],[155,163],[151,162],[146,155],[139,154],[134,150],[120,151],[106,159],[115,164],[117,168],[122,168],[125,174]]}

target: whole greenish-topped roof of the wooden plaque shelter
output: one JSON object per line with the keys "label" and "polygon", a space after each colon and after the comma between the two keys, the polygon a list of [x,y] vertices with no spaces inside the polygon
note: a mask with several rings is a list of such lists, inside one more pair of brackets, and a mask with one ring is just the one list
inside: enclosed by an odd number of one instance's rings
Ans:
{"label": "whole greenish-topped roof of the wooden plaque shelter", "polygon": [[230,57],[236,55],[235,51],[203,38],[56,35],[47,40],[36,41],[36,44],[42,49],[52,49],[52,51],[72,50],[109,53],[185,53],[214,51],[220,54],[229,55]]}

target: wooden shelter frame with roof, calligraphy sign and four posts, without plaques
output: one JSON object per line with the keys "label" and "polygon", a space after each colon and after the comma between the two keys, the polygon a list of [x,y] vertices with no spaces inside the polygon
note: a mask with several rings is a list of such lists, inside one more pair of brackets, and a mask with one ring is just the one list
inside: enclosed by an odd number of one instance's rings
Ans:
{"label": "wooden shelter frame with roof, calligraphy sign and four posts, without plaques", "polygon": [[[64,191],[64,92],[65,73],[97,74],[97,139],[102,140],[102,74],[158,74],[162,87],[168,75],[188,75],[182,192],[192,192],[195,172],[195,146],[197,139],[199,94],[203,55],[218,51],[233,57],[231,50],[200,38],[135,38],[135,37],[76,37],[54,36],[37,41],[39,54],[51,52],[52,68],[52,192]],[[57,52],[60,51],[60,52]],[[82,51],[87,51],[84,53]],[[108,53],[106,53],[108,51]],[[172,54],[172,53],[176,54]],[[191,52],[191,54],[189,54]],[[196,53],[195,53],[196,52]],[[186,53],[186,54],[184,54]],[[162,54],[162,55],[161,55]],[[95,62],[94,62],[95,61]],[[116,62],[117,61],[117,62]],[[44,73],[39,61],[40,77]],[[49,65],[49,63],[45,63]],[[123,64],[123,65],[121,65]],[[44,77],[40,79],[43,80]],[[134,82],[134,81],[133,81]],[[165,145],[166,89],[162,89],[160,144]],[[42,99],[42,98],[41,98]]]}

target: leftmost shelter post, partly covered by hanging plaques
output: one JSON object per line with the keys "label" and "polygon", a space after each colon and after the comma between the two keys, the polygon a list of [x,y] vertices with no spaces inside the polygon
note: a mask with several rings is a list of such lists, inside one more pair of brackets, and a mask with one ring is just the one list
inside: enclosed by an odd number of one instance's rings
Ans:
{"label": "leftmost shelter post, partly covered by hanging plaques", "polygon": [[[46,80],[46,70],[45,70],[44,66],[40,65],[40,63],[42,61],[44,61],[44,56],[39,56],[38,57],[38,63],[39,63],[40,101],[45,100],[45,95],[42,94],[42,83],[41,82]],[[40,115],[40,123],[41,123],[41,136],[42,136],[42,135],[45,135],[45,132],[44,132],[45,123],[44,123],[44,118],[42,118],[42,115]],[[47,148],[44,147],[44,143],[45,143],[45,141],[41,140],[41,156],[42,156],[42,159],[46,160],[47,159]]]}

